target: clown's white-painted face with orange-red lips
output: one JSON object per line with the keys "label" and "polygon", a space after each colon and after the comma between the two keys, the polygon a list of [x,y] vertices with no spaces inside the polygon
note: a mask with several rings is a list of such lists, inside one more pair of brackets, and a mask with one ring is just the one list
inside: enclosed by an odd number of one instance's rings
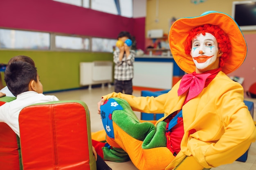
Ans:
{"label": "clown's white-painted face with orange-red lips", "polygon": [[212,34],[200,34],[192,39],[191,56],[198,70],[208,71],[218,68],[219,62],[216,60],[221,54],[217,40]]}

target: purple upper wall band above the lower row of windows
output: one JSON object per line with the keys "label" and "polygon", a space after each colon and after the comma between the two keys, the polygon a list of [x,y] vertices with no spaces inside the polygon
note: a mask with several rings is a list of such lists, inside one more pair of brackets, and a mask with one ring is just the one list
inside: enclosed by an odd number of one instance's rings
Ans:
{"label": "purple upper wall band above the lower row of windows", "polygon": [[144,49],[145,41],[145,17],[121,17],[53,0],[1,0],[0,27],[105,38],[129,31],[138,48]]}

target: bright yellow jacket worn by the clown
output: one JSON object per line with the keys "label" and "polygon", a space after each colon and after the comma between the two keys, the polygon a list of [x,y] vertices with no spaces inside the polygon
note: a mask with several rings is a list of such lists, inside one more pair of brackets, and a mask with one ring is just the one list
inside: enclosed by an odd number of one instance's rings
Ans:
{"label": "bright yellow jacket worn by the clown", "polygon": [[[193,155],[205,168],[232,163],[243,155],[256,140],[254,121],[243,102],[243,87],[219,72],[197,97],[182,107],[186,94],[177,96],[179,86],[180,81],[168,93],[155,98],[121,93],[103,98],[123,98],[133,111],[165,113],[166,116],[182,109],[184,136],[181,151],[166,169],[176,167],[186,155]],[[189,135],[191,129],[196,132]]]}

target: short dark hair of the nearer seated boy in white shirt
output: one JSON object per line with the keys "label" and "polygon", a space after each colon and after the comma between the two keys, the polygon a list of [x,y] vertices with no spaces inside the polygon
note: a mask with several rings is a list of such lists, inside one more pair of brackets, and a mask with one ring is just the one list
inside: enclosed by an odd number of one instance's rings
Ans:
{"label": "short dark hair of the nearer seated boy in white shirt", "polygon": [[4,81],[10,92],[17,97],[18,94],[29,91],[31,80],[37,82],[36,67],[25,61],[14,61],[4,72]]}

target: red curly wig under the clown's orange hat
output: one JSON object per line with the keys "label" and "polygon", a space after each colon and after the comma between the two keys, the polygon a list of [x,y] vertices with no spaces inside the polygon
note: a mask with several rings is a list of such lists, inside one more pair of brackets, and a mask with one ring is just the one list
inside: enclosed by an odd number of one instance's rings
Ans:
{"label": "red curly wig under the clown's orange hat", "polygon": [[185,45],[186,54],[190,54],[191,52],[192,39],[201,33],[202,35],[205,35],[205,33],[210,33],[216,38],[218,42],[218,48],[221,52],[223,52],[223,54],[220,57],[219,66],[223,67],[225,64],[225,61],[229,59],[229,53],[231,52],[231,44],[227,34],[222,29],[220,29],[220,27],[216,25],[204,24],[202,26],[193,28],[189,32],[188,37],[186,38],[186,45]]}

